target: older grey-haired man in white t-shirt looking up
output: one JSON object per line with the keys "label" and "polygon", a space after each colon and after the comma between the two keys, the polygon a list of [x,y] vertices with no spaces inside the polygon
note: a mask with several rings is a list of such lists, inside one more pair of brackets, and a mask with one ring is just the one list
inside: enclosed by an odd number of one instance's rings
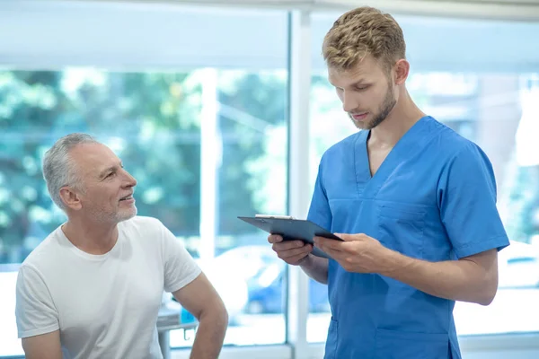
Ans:
{"label": "older grey-haired man in white t-shirt looking up", "polygon": [[43,173],[67,222],[24,260],[16,317],[29,359],[162,358],[156,320],[163,290],[199,320],[193,358],[219,355],[227,314],[181,241],[137,216],[137,181],[104,144],[62,137]]}

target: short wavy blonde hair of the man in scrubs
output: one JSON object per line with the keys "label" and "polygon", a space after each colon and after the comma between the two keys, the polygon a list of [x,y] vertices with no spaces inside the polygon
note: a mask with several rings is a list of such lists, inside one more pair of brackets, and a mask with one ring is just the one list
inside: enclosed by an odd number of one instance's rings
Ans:
{"label": "short wavy blonde hair of the man in scrubs", "polygon": [[368,6],[341,15],[323,39],[323,59],[338,70],[349,70],[371,55],[389,71],[405,53],[401,26],[389,13]]}

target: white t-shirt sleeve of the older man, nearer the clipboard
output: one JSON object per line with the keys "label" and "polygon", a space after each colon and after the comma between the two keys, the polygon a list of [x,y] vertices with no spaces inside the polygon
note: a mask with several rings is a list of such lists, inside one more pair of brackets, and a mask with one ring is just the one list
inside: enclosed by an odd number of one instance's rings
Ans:
{"label": "white t-shirt sleeve of the older man, nearer the clipboard", "polygon": [[163,235],[164,290],[172,293],[189,285],[201,270],[183,242],[161,224]]}

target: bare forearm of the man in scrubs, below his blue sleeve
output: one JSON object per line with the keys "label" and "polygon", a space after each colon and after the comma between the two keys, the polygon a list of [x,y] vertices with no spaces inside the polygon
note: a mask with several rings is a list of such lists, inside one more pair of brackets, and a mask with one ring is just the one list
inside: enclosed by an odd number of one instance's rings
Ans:
{"label": "bare forearm of the man in scrubs, below his blue sleeve", "polygon": [[487,271],[472,260],[428,262],[391,250],[380,272],[422,292],[454,301],[488,305],[498,288],[497,271]]}

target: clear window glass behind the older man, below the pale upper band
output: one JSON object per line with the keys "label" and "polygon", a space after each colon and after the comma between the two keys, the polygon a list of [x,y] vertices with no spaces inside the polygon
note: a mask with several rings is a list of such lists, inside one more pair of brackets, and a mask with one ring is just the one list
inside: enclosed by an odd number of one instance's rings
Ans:
{"label": "clear window glass behind the older man, below the pale upper band", "polygon": [[[261,246],[266,236],[235,216],[285,212],[286,89],[282,69],[0,71],[0,355],[22,355],[18,264],[66,219],[40,161],[71,132],[119,155],[138,181],[138,214],[160,219],[207,272],[230,313],[225,344],[283,343],[282,308],[250,312],[255,295],[281,293],[282,271]],[[172,346],[191,344],[172,333]]]}

